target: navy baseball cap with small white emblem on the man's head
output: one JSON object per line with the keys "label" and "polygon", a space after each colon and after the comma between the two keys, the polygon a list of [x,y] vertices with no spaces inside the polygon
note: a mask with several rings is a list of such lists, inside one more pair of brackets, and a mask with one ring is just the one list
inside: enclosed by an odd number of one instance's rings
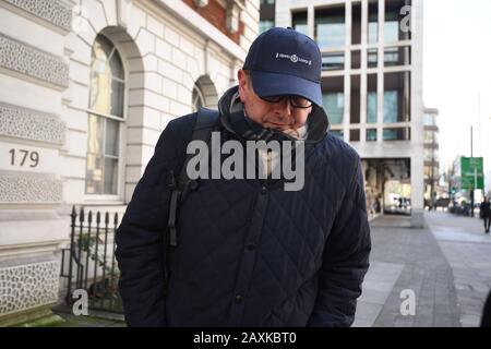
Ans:
{"label": "navy baseball cap with small white emblem on the man's head", "polygon": [[274,27],[252,43],[243,69],[258,96],[297,95],[322,108],[321,64],[314,40],[291,27]]}

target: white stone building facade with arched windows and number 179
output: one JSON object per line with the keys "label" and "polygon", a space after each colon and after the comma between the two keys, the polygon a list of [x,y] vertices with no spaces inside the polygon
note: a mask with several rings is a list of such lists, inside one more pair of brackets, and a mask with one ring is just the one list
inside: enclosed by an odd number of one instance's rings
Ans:
{"label": "white stone building facade with arched windows and number 179", "polygon": [[259,0],[0,0],[0,323],[59,299],[72,205],[122,213],[169,120],[215,107]]}

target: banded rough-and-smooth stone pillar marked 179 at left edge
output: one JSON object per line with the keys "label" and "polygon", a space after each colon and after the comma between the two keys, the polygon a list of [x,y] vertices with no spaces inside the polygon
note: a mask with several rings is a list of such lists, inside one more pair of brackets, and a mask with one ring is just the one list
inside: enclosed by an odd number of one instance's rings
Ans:
{"label": "banded rough-and-smooth stone pillar marked 179 at left edge", "polygon": [[64,1],[0,1],[0,318],[57,301],[71,17]]}

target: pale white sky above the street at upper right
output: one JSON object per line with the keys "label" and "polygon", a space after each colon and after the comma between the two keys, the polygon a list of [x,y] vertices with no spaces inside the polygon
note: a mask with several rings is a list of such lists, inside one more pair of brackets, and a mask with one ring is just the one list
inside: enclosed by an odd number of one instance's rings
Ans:
{"label": "pale white sky above the street at upper right", "polygon": [[489,172],[491,1],[424,0],[423,5],[423,100],[440,110],[441,167],[457,155],[470,156],[474,127],[474,156],[484,157]]}

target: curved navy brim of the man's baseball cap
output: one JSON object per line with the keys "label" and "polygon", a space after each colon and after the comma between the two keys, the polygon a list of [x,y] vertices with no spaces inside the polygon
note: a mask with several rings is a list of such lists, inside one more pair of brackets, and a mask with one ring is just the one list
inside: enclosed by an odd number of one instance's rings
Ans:
{"label": "curved navy brim of the man's baseball cap", "polygon": [[252,87],[260,97],[297,95],[322,108],[321,84],[295,75],[251,71]]}

